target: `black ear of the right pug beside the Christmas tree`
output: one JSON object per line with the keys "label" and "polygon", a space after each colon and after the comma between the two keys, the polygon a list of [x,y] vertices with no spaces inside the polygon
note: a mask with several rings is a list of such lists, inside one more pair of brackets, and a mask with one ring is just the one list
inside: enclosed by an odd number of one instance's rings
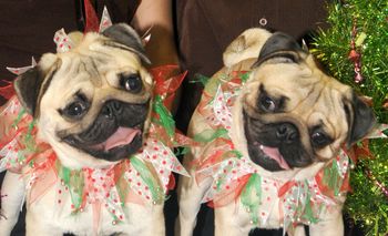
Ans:
{"label": "black ear of the right pug beside the Christmas tree", "polygon": [[345,105],[350,127],[347,140],[348,147],[365,137],[376,124],[372,109],[363,102],[355,93],[353,93],[353,99],[349,104],[351,107]]}

